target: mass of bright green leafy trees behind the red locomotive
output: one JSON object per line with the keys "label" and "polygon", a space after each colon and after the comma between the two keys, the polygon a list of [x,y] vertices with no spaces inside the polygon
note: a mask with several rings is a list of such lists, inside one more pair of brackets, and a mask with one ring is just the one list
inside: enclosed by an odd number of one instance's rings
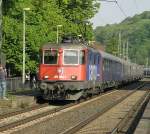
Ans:
{"label": "mass of bright green leafy trees behind the red locomotive", "polygon": [[[56,42],[57,25],[60,36],[82,34],[92,38],[89,19],[99,8],[98,0],[3,0],[3,51],[7,66],[14,75],[22,71],[23,8],[26,13],[26,72],[38,66],[38,52],[44,42]],[[88,25],[87,25],[88,24]]]}

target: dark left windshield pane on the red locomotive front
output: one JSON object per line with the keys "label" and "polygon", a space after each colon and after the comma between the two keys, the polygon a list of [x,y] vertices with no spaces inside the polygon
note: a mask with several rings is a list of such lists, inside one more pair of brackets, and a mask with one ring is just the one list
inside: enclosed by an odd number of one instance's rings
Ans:
{"label": "dark left windshield pane on the red locomotive front", "polygon": [[57,64],[58,50],[44,50],[44,64]]}

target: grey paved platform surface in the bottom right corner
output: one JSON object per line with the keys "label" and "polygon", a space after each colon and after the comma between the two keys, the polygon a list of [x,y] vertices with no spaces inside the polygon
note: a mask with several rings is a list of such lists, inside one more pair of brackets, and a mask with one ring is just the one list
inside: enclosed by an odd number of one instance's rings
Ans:
{"label": "grey paved platform surface in the bottom right corner", "polygon": [[144,114],[134,134],[150,134],[150,101],[147,104]]}

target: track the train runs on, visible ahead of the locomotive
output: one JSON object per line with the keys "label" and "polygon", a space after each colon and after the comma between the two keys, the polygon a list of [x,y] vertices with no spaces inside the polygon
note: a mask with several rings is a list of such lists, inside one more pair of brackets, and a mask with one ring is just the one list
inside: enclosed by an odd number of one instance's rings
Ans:
{"label": "track the train runs on, visible ahead of the locomotive", "polygon": [[[68,104],[68,105],[61,106],[61,107],[49,108],[48,104],[44,104],[44,105],[41,105],[41,106],[35,106],[35,107],[29,108],[29,109],[16,111],[16,112],[10,113],[10,115],[6,114],[6,115],[4,115],[4,117],[1,116],[1,119],[0,119],[0,132],[9,130],[11,128],[14,128],[16,126],[25,124],[27,122],[36,120],[36,119],[44,117],[44,116],[47,116],[49,114],[53,114],[53,113],[58,112],[62,109],[70,107],[72,105],[73,104]],[[46,108],[46,109],[44,109],[44,108]],[[40,111],[40,112],[38,112],[38,111]],[[34,112],[35,114],[32,113],[32,115],[30,116],[29,112],[30,113]],[[22,114],[25,114],[25,115],[22,115]],[[29,116],[26,115],[26,114],[28,114]],[[18,117],[15,117],[15,116],[18,116]],[[8,120],[8,118],[10,118],[11,122]],[[12,121],[12,118],[14,118],[14,121]],[[15,120],[15,118],[17,118],[17,120]]]}

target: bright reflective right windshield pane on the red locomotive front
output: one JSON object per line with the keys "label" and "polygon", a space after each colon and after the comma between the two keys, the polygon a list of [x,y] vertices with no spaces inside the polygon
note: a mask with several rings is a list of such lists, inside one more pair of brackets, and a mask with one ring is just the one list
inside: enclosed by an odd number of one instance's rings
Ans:
{"label": "bright reflective right windshield pane on the red locomotive front", "polygon": [[64,64],[78,64],[78,51],[64,50]]}

